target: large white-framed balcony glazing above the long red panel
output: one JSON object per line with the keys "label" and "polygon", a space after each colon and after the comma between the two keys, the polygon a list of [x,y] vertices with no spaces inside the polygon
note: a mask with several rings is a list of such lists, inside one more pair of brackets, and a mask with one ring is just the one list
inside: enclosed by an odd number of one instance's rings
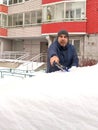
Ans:
{"label": "large white-framed balcony glazing above the long red panel", "polygon": [[[83,13],[82,13],[83,12]],[[51,21],[74,21],[86,18],[86,1],[78,2],[61,2],[43,6],[42,20],[43,22]]]}

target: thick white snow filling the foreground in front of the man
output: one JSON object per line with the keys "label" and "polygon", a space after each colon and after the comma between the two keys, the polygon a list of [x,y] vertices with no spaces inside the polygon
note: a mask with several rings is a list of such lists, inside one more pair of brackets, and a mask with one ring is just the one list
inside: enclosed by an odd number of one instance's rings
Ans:
{"label": "thick white snow filling the foreground in front of the man", "polygon": [[98,130],[98,64],[1,78],[0,130]]}

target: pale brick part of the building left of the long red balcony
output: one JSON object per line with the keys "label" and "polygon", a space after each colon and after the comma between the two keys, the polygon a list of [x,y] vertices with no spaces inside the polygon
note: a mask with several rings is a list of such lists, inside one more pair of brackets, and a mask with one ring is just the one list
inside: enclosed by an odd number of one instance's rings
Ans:
{"label": "pale brick part of the building left of the long red balcony", "polygon": [[[7,0],[0,5],[0,53],[46,53],[48,42],[41,35],[42,1]],[[17,54],[17,55],[18,55]]]}

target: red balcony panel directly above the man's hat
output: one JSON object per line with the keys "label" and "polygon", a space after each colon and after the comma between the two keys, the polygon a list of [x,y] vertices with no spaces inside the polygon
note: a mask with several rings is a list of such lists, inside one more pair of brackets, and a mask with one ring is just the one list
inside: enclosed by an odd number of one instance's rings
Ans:
{"label": "red balcony panel directly above the man's hat", "polygon": [[69,32],[86,32],[86,22],[61,22],[42,25],[42,34],[57,33],[61,29]]}

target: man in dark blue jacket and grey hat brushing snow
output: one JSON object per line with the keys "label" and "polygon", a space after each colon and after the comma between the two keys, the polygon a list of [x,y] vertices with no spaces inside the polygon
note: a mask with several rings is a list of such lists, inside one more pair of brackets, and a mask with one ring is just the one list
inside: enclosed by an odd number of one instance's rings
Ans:
{"label": "man in dark blue jacket and grey hat brushing snow", "polygon": [[47,73],[60,70],[54,63],[68,69],[78,67],[78,56],[75,47],[69,44],[69,34],[66,30],[59,31],[57,39],[48,48]]}

